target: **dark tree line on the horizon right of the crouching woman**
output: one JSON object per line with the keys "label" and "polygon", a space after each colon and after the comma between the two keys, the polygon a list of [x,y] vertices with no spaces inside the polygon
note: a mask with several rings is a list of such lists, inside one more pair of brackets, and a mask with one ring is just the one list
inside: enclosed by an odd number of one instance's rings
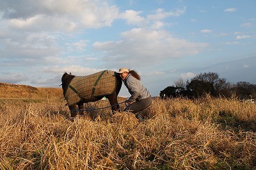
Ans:
{"label": "dark tree line on the horizon right of the crouching woman", "polygon": [[240,99],[255,99],[256,84],[237,82],[232,84],[227,79],[220,78],[216,72],[200,73],[190,80],[178,79],[175,85],[160,91],[161,98],[188,97],[198,98],[205,94],[212,97],[238,97]]}

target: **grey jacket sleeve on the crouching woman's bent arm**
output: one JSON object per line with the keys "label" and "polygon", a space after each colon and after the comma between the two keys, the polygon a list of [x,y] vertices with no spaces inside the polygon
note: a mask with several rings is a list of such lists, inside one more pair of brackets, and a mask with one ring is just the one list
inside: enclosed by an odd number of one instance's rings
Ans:
{"label": "grey jacket sleeve on the crouching woman's bent arm", "polygon": [[127,82],[127,88],[129,89],[129,92],[131,93],[131,97],[127,100],[128,102],[133,102],[136,100],[136,98],[139,97],[140,91],[141,91],[141,83],[138,80],[129,81]]}

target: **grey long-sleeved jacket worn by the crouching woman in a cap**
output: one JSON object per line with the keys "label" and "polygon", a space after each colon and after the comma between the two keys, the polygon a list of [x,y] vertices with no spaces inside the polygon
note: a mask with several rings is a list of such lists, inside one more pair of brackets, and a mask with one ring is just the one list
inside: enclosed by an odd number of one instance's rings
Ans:
{"label": "grey long-sleeved jacket worn by the crouching woman in a cap", "polygon": [[148,89],[141,84],[141,81],[133,77],[131,74],[127,75],[124,80],[124,84],[131,94],[131,97],[128,99],[129,102],[151,96]]}

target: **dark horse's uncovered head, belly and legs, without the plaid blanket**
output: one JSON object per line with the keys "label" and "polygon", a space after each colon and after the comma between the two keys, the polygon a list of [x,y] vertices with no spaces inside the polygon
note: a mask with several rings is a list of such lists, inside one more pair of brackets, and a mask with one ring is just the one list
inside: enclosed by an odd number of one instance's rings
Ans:
{"label": "dark horse's uncovered head, belly and legs, without the plaid blanket", "polygon": [[[111,71],[111,72],[113,72],[113,71]],[[71,73],[68,74],[67,72],[65,72],[63,74],[63,76],[61,77],[61,82],[62,82],[61,85],[62,85],[64,97],[65,97],[66,91],[68,90],[68,88],[70,88],[70,82],[72,81],[72,79],[74,79],[74,77],[76,77],[76,76],[72,75]],[[72,104],[72,105],[68,105],[68,107],[70,109],[70,113],[71,113],[71,118],[75,118],[77,115],[76,105],[78,106],[79,110],[83,110],[84,103],[95,102],[97,100],[102,99],[103,97],[108,98],[113,113],[115,111],[120,111],[120,107],[117,102],[117,96],[118,96],[118,93],[122,86],[122,79],[116,72],[115,72],[115,75],[113,75],[113,77],[115,77],[115,79],[116,79],[115,81],[113,81],[113,84],[116,84],[115,90],[113,91],[113,93],[111,93],[109,95],[93,97],[93,98],[82,98],[82,97],[79,98],[79,102]],[[112,84],[112,81],[110,83]],[[83,114],[83,111],[79,111],[79,113]]]}

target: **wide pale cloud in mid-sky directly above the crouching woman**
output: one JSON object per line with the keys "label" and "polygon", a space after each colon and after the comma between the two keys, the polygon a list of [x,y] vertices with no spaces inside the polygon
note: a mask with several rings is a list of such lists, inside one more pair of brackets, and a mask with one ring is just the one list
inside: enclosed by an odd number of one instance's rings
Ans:
{"label": "wide pale cloud in mid-sky directly above the crouching woman", "polygon": [[93,43],[95,50],[105,52],[106,63],[145,66],[150,63],[167,62],[173,58],[192,56],[207,47],[206,43],[193,43],[175,38],[164,30],[134,28],[121,35],[122,40],[118,42]]}

